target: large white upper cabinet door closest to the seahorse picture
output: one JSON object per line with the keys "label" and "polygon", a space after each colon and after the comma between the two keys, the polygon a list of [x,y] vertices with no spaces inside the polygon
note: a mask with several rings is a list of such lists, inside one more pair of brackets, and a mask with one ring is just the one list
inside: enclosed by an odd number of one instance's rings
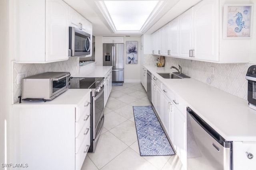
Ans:
{"label": "large white upper cabinet door closest to the seahorse picture", "polygon": [[195,59],[218,61],[218,1],[203,0],[193,9]]}

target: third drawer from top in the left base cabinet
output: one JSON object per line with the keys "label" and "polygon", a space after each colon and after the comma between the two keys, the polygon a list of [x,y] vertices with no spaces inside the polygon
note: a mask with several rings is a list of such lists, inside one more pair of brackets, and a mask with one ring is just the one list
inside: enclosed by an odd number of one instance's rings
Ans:
{"label": "third drawer from top in the left base cabinet", "polygon": [[76,137],[76,153],[81,147],[82,142],[84,141],[84,138],[86,138],[88,135],[90,136],[90,121],[86,121],[81,131],[79,132],[78,136]]}

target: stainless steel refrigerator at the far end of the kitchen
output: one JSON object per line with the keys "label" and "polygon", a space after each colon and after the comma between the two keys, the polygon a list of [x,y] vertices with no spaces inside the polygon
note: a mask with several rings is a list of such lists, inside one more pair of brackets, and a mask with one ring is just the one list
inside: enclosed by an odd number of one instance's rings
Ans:
{"label": "stainless steel refrigerator at the far end of the kitchen", "polygon": [[112,82],[124,82],[124,44],[103,44],[103,66],[112,66]]}

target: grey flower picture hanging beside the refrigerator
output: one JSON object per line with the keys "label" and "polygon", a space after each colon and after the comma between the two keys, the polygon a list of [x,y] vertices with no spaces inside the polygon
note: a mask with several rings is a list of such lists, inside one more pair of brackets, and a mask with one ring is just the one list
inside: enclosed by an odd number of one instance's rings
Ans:
{"label": "grey flower picture hanging beside the refrigerator", "polygon": [[138,41],[126,41],[126,64],[138,64]]}

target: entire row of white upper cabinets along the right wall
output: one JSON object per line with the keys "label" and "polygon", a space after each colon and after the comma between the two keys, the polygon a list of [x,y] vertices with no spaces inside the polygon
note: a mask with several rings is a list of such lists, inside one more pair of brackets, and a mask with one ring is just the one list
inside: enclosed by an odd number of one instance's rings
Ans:
{"label": "entire row of white upper cabinets along the right wall", "polygon": [[[227,0],[202,0],[172,20],[170,52],[153,54],[217,63],[248,63],[251,39],[223,39],[223,6],[227,3]],[[165,32],[166,25],[159,30]],[[165,49],[167,42],[154,40],[159,37],[159,34],[156,36],[159,30],[152,33],[152,44],[158,42],[162,47],[152,47],[154,51]]]}

